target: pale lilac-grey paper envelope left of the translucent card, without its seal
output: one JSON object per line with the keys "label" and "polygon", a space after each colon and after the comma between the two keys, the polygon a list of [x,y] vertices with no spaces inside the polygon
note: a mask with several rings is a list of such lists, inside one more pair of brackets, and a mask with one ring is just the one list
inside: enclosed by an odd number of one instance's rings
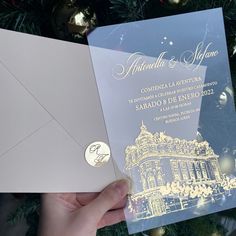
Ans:
{"label": "pale lilac-grey paper envelope left of the translucent card, without its seal", "polygon": [[89,48],[0,30],[0,192],[96,192],[116,180]]}

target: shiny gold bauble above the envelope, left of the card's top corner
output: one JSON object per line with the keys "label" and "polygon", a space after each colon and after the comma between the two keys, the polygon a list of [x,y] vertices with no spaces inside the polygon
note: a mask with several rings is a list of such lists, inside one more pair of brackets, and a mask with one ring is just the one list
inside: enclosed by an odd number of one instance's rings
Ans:
{"label": "shiny gold bauble above the envelope, left of the card's top corner", "polygon": [[52,11],[52,27],[60,39],[84,38],[96,23],[92,6],[80,4],[78,0],[61,0]]}

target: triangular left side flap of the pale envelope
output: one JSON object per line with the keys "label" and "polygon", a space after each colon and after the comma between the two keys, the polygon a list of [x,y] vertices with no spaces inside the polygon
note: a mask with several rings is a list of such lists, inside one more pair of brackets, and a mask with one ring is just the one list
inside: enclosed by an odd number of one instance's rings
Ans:
{"label": "triangular left side flap of the pale envelope", "polygon": [[0,63],[0,158],[52,117]]}

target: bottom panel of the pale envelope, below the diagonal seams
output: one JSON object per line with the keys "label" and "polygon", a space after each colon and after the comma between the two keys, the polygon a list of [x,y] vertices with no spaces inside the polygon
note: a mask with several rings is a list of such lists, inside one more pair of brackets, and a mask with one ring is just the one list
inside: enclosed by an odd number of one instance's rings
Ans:
{"label": "bottom panel of the pale envelope, below the diagonal seams", "polygon": [[0,192],[98,192],[115,175],[111,163],[89,166],[82,148],[51,121],[0,158],[0,179]]}

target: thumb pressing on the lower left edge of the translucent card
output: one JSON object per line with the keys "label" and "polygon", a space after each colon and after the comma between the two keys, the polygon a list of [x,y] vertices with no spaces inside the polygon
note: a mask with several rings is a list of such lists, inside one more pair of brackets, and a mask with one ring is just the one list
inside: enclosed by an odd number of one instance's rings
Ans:
{"label": "thumb pressing on the lower left edge of the translucent card", "polygon": [[97,222],[114,205],[121,201],[129,192],[129,182],[119,180],[108,185],[99,195],[86,207],[93,212],[93,219]]}

